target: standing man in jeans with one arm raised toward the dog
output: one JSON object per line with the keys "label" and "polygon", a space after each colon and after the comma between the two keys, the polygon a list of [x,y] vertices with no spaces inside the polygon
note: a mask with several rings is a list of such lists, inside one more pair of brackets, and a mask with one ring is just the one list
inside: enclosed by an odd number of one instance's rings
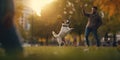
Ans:
{"label": "standing man in jeans with one arm raised toward the dog", "polygon": [[86,17],[88,17],[88,22],[87,22],[86,29],[85,29],[85,38],[86,38],[87,46],[90,46],[89,39],[88,39],[90,32],[92,32],[94,34],[94,37],[97,41],[97,46],[98,47],[100,46],[100,39],[98,37],[97,30],[101,26],[102,20],[101,20],[101,16],[98,14],[97,10],[98,10],[97,7],[93,6],[92,13],[89,14],[89,13],[86,13],[83,8],[83,14]]}

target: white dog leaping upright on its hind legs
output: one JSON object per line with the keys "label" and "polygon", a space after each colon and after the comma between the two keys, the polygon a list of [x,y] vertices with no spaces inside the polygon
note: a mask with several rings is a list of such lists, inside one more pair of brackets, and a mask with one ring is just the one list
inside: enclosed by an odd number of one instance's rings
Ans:
{"label": "white dog leaping upright on its hind legs", "polygon": [[56,38],[59,46],[63,43],[62,38],[64,38],[73,28],[69,27],[69,20],[62,23],[62,27],[60,29],[60,32],[56,34],[54,31],[52,31],[53,36]]}

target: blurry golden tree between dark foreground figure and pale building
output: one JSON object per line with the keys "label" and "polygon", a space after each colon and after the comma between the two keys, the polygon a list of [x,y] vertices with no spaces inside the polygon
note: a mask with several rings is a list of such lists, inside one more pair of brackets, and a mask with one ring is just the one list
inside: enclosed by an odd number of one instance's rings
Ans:
{"label": "blurry golden tree between dark foreground figure and pale building", "polygon": [[23,18],[23,14],[24,14],[23,10],[25,8],[25,5],[23,4],[23,0],[14,0],[14,5],[15,5],[14,21],[15,21],[16,28],[19,30],[22,37],[26,38],[26,33],[23,29],[23,25],[19,23],[20,18]]}

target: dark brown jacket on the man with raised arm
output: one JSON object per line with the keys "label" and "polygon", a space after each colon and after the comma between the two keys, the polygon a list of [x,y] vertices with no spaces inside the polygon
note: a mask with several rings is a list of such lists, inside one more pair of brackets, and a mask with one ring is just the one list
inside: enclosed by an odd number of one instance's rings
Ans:
{"label": "dark brown jacket on the man with raised arm", "polygon": [[98,29],[101,26],[102,19],[98,13],[88,14],[83,10],[83,14],[88,17],[86,28]]}

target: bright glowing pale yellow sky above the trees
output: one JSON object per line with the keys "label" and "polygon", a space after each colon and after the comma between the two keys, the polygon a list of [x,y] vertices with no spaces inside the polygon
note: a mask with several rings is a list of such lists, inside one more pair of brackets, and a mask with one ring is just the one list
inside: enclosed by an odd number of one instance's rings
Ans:
{"label": "bright glowing pale yellow sky above the trees", "polygon": [[29,13],[33,11],[38,16],[41,16],[41,10],[44,8],[44,6],[55,1],[57,0],[23,0],[23,4],[26,6],[24,12]]}

